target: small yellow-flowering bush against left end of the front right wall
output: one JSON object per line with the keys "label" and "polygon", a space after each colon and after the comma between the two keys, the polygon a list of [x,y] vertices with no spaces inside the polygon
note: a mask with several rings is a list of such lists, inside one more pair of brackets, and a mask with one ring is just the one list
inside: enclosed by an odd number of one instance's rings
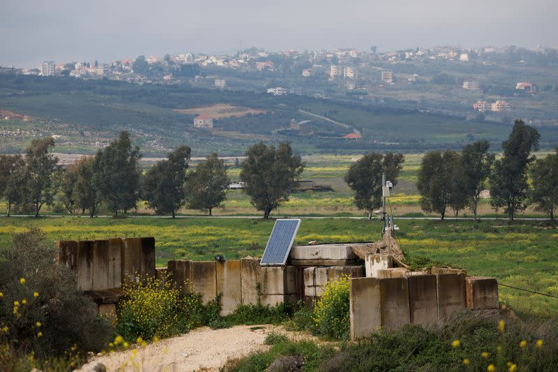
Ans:
{"label": "small yellow-flowering bush against left end of the front right wall", "polygon": [[312,315],[319,334],[335,340],[349,339],[349,283],[350,278],[343,276],[326,284]]}

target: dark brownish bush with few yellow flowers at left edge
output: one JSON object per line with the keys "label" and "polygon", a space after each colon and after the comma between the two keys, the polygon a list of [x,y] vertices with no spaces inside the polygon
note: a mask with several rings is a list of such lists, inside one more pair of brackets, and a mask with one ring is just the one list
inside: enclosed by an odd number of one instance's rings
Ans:
{"label": "dark brownish bush with few yellow flowers at left edge", "polygon": [[14,360],[31,352],[38,359],[70,349],[97,352],[114,334],[75,274],[54,256],[54,245],[37,228],[13,235],[0,250],[0,344]]}

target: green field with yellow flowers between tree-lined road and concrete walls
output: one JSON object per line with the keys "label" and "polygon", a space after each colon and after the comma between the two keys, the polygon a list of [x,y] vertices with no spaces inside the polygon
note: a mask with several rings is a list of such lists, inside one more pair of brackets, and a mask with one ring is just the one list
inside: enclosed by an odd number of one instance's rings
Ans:
{"label": "green field with yellow flowers between tree-lined road and concrete walls", "polygon": [[[173,258],[211,260],[262,255],[273,219],[250,218],[0,218],[0,246],[10,234],[33,225],[49,239],[102,239],[153,236],[157,263]],[[410,261],[433,260],[463,267],[471,275],[495,276],[520,288],[558,295],[558,226],[503,221],[398,221],[398,238]],[[296,244],[374,241],[377,220],[303,220]],[[500,288],[500,298],[518,313],[550,316],[558,299]]]}

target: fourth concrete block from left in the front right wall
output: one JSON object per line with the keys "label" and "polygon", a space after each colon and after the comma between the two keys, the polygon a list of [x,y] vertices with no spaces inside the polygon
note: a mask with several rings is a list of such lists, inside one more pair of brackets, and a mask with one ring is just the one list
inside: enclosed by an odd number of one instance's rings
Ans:
{"label": "fourth concrete block from left in the front right wall", "polygon": [[465,308],[465,274],[437,274],[438,320],[446,322]]}

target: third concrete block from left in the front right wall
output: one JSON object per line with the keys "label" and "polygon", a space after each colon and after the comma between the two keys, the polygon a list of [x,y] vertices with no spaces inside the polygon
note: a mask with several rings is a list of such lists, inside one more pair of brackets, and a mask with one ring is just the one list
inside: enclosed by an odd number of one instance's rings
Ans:
{"label": "third concrete block from left in the front right wall", "polygon": [[431,325],[438,321],[436,276],[407,276],[409,311],[413,324]]}

